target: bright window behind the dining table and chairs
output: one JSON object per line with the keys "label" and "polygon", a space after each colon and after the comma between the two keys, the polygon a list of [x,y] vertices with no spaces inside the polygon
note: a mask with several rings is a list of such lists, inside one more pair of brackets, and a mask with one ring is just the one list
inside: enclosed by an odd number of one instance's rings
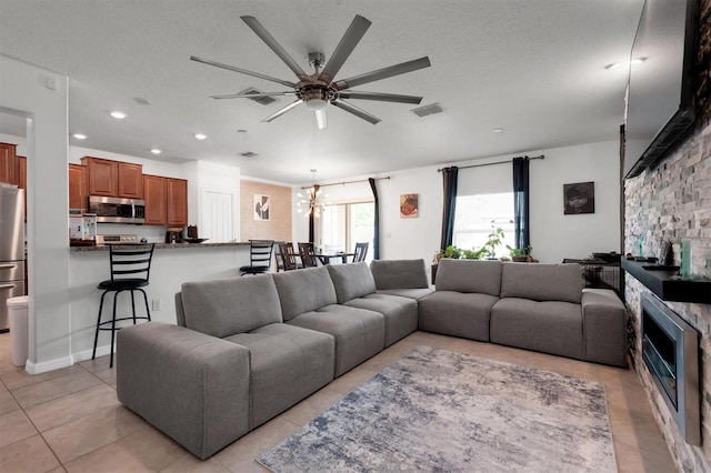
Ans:
{"label": "bright window behind the dining table and chairs", "polygon": [[349,202],[326,205],[321,212],[317,246],[324,252],[353,251],[356,243],[368,242],[368,261],[372,260],[373,202]]}

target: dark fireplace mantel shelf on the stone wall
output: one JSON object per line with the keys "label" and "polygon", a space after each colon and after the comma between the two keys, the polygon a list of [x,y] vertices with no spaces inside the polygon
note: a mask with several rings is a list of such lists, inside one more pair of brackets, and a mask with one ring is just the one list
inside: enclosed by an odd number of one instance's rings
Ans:
{"label": "dark fireplace mantel shelf on the stone wall", "polygon": [[673,302],[711,304],[710,279],[685,281],[674,278],[677,271],[644,269],[644,266],[650,265],[654,266],[654,263],[622,259],[622,269],[644,284],[659,299]]}

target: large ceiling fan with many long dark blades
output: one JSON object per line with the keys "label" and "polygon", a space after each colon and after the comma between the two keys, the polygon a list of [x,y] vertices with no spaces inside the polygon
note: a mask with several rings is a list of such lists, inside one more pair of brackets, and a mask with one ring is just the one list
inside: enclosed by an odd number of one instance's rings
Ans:
{"label": "large ceiling fan with many long dark blades", "polygon": [[[227,95],[211,95],[212,99],[238,99],[238,98],[259,98],[259,97],[277,97],[277,95],[293,95],[297,100],[281,110],[267,117],[264,122],[270,122],[289,110],[296,108],[301,103],[316,111],[316,118],[319,129],[327,128],[326,124],[326,109],[329,104],[354,114],[372,124],[380,121],[379,118],[368,113],[364,110],[347,102],[344,99],[353,100],[375,100],[382,102],[397,102],[397,103],[412,103],[419,104],[422,101],[421,97],[413,95],[400,95],[394,93],[380,93],[380,92],[362,92],[353,91],[352,87],[362,85],[364,83],[374,82],[381,79],[391,78],[393,76],[400,76],[407,72],[417,71],[419,69],[430,67],[430,59],[423,57],[414,59],[412,61],[401,62],[399,64],[390,66],[388,68],[378,69],[375,71],[367,72],[364,74],[356,76],[348,79],[336,80],[336,74],[341,69],[346,60],[351,52],[356,49],[371,22],[365,18],[357,14],[351,26],[341,38],[341,41],[336,47],[333,56],[326,62],[323,53],[310,52],[309,63],[313,67],[314,72],[308,74],[303,69],[294,61],[287,51],[277,42],[277,40],[267,31],[267,29],[254,17],[241,17],[248,27],[257,33],[262,41],[267,43],[272,51],[291,69],[297,78],[298,82],[288,80],[281,80],[272,78],[270,76],[261,74],[259,72],[252,72],[244,69],[236,68],[233,66],[223,64],[221,62],[211,61],[203,58],[191,56],[192,61],[202,62],[204,64],[214,66],[218,68],[227,69],[230,71],[239,72],[247,76],[264,79],[271,82],[280,83],[284,87],[292,88],[293,90],[284,92],[264,92],[264,93],[232,93]],[[324,66],[326,64],[326,66]]]}

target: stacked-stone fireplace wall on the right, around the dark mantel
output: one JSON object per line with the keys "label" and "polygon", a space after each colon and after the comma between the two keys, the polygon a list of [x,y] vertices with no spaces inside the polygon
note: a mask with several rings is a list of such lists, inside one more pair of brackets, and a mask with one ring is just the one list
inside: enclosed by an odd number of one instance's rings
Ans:
{"label": "stacked-stone fireplace wall on the right, around the dark mantel", "polygon": [[[691,244],[693,274],[711,278],[711,0],[700,1],[697,54],[697,124],[668,150],[654,167],[624,181],[624,252],[662,256],[668,242],[679,264],[680,242]],[[688,442],[674,419],[663,388],[643,360],[642,300],[652,298],[698,332],[700,442]],[[711,304],[671,302],[657,298],[631,274],[625,274],[624,302],[631,315],[631,356],[652,405],[657,424],[680,471],[711,471]]]}

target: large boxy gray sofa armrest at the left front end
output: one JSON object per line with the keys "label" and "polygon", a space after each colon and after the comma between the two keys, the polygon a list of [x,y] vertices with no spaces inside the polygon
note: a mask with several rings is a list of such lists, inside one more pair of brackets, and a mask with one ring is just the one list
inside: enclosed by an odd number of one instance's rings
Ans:
{"label": "large boxy gray sofa armrest at the left front end", "polygon": [[249,432],[250,351],[182,326],[121,329],[117,394],[200,459]]}

